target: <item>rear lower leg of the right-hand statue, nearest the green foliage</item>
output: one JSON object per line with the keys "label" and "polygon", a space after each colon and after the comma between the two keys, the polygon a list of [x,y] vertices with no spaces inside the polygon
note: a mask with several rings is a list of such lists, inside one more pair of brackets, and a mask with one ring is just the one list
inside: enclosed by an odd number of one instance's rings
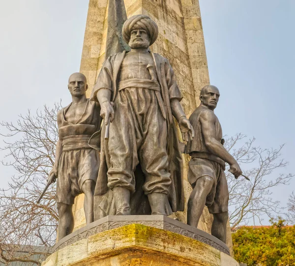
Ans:
{"label": "rear lower leg of the right-hand statue, nearest the green foliage", "polygon": [[229,219],[229,212],[213,213],[211,235],[226,243],[226,227]]}

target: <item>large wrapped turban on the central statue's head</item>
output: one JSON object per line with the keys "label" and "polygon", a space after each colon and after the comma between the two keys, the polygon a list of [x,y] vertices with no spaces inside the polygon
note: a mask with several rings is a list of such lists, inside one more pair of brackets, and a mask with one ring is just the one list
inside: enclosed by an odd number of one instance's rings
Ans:
{"label": "large wrapped turban on the central statue's head", "polygon": [[130,41],[132,30],[146,30],[150,37],[150,45],[156,41],[159,33],[157,24],[145,15],[135,15],[125,21],[122,28],[122,35],[126,43]]}

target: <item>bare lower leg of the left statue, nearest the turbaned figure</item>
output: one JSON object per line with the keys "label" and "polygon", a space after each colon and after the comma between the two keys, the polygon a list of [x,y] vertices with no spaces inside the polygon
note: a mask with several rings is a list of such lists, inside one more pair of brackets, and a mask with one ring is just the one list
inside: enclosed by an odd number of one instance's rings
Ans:
{"label": "bare lower leg of the left statue, nearest the turbaned figure", "polygon": [[84,199],[84,211],[86,223],[93,222],[93,195],[95,189],[95,182],[92,179],[85,180],[82,185],[82,191],[85,195]]}

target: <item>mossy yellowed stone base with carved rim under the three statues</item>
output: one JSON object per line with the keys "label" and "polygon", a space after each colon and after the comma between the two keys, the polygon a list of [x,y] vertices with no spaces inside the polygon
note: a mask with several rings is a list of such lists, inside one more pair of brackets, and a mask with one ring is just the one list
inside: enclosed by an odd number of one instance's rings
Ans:
{"label": "mossy yellowed stone base with carved rim under the three statues", "polygon": [[[143,221],[147,217],[148,221]],[[161,222],[170,230],[156,228],[161,227]],[[179,225],[184,228],[179,230]],[[109,230],[109,227],[117,228]],[[162,215],[108,216],[71,235],[57,243],[56,251],[42,266],[238,266],[227,252],[212,246],[219,246],[222,243],[219,239]]]}

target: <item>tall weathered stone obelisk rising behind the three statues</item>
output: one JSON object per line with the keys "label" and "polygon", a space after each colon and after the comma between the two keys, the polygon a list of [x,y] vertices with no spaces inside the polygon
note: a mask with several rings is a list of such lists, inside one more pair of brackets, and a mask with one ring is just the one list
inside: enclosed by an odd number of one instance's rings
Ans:
{"label": "tall weathered stone obelisk rising behind the three statues", "polygon": [[[108,4],[108,0],[89,0],[80,66],[80,72],[85,74],[88,79],[89,94],[105,60]],[[189,117],[200,103],[198,97],[200,90],[209,84],[199,0],[124,0],[124,4],[127,17],[145,14],[158,25],[159,36],[151,46],[151,50],[169,59],[183,95],[181,105]],[[184,190],[187,200],[191,191],[186,180],[189,157],[184,156],[183,159]],[[73,207],[74,231],[86,225],[83,197],[84,194],[77,197]],[[176,213],[175,216],[185,223],[186,209],[184,212]],[[210,233],[211,219],[212,217],[205,210],[199,228]],[[232,240],[229,228],[228,232],[227,244],[231,248]]]}

